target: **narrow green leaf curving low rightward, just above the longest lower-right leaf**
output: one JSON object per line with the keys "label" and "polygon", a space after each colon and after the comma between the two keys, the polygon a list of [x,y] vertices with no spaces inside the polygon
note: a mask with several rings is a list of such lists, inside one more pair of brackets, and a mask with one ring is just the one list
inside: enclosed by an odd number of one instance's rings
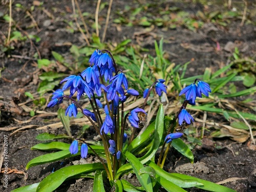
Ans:
{"label": "narrow green leaf curving low rightward, just above the longest lower-right leaf", "polygon": [[201,182],[198,182],[194,179],[181,179],[179,177],[173,176],[165,172],[162,168],[157,166],[157,164],[155,164],[152,161],[148,161],[146,164],[154,168],[158,176],[161,176],[162,178],[165,178],[166,180],[172,183],[175,183],[179,187],[187,188],[187,187],[195,187],[195,186],[203,185]]}

